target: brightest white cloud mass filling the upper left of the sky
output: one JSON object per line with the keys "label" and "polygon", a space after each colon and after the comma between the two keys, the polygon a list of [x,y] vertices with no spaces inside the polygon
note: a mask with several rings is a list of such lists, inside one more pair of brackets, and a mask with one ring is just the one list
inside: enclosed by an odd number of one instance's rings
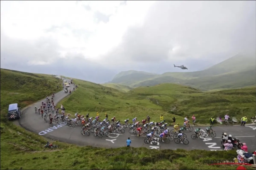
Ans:
{"label": "brightest white cloud mass filling the upper left of the sky", "polygon": [[[128,27],[143,23],[148,8],[154,3],[128,1],[120,5],[120,2],[1,1],[1,31],[21,41],[37,41],[42,37],[56,40],[59,45],[56,51],[60,55],[52,56],[52,60],[68,53],[81,53],[90,60],[100,61],[102,54],[120,43]],[[109,22],[100,19],[98,22],[96,12],[108,15]],[[86,38],[75,35],[75,30],[88,35]]]}

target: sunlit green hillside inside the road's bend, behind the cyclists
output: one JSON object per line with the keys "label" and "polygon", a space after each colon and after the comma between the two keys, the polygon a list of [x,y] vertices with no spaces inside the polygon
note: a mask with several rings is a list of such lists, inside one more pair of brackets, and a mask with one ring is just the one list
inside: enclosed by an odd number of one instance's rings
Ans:
{"label": "sunlit green hillside inside the road's bend, behind the cyclists", "polygon": [[[108,113],[123,121],[137,117],[139,120],[150,115],[152,120],[159,121],[162,114],[171,123],[173,116],[179,122],[185,116],[197,117],[197,122],[205,124],[210,117],[224,116],[240,118],[244,115],[253,116],[256,113],[256,88],[239,89],[242,92],[227,95],[224,91],[202,92],[196,88],[178,84],[160,84],[152,87],[138,87],[127,93],[98,84],[75,80],[79,84],[78,93],[74,92],[69,98],[61,101],[71,114],[76,112],[91,116],[104,117]],[[80,88],[81,87],[81,88]],[[248,91],[250,91],[248,93]],[[85,97],[86,96],[86,97]],[[77,102],[78,101],[78,102]]]}

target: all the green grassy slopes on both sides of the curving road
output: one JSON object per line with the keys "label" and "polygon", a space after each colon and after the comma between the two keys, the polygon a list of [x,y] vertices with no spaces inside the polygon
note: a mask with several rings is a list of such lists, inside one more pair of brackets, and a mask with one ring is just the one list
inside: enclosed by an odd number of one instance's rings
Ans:
{"label": "all the green grassy slopes on both sides of the curving road", "polygon": [[[6,69],[0,71],[1,169],[38,169],[42,165],[47,165],[48,169],[198,169],[198,167],[200,169],[209,169],[209,167],[210,169],[234,169],[233,166],[227,167],[227,165],[212,167],[198,161],[205,158],[232,159],[237,156],[236,151],[233,150],[212,152],[182,149],[155,150],[145,147],[110,149],[82,147],[47,139],[26,131],[12,121],[6,120],[8,105],[17,102],[24,108],[51,94],[53,90],[55,92],[60,90],[57,89],[57,85],[62,84],[62,81],[46,74]],[[79,85],[76,89],[78,92],[72,93],[59,102],[63,102],[67,112],[71,113],[99,111],[103,115],[108,112],[109,116],[116,115],[121,121],[124,117],[135,115],[141,120],[145,118],[145,114],[151,114],[152,119],[156,120],[159,119],[159,114],[163,114],[168,122],[175,114],[177,114],[176,120],[182,122],[183,115],[195,113],[198,121],[208,122],[210,115],[219,115],[223,111],[230,113],[230,116],[241,117],[246,114],[250,117],[255,115],[256,110],[255,88],[203,93],[198,89],[178,84],[161,84],[120,92],[96,83],[74,80]],[[175,108],[171,107],[172,105],[175,105]],[[224,112],[221,113],[223,114]],[[54,142],[59,148],[52,150],[44,148],[47,141]],[[136,157],[131,156],[134,153]],[[62,161],[56,163],[56,158],[61,158]]]}

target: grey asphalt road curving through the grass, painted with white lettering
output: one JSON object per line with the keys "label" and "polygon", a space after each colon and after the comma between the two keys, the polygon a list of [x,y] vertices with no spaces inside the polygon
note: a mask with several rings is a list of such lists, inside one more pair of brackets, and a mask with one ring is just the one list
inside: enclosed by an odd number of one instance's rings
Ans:
{"label": "grey asphalt road curving through the grass, painted with white lettering", "polygon": [[[70,81],[70,80],[67,80]],[[73,84],[70,85],[68,89],[73,89]],[[76,92],[72,90],[72,93]],[[55,94],[54,103],[58,103],[63,98],[67,97],[69,93],[65,93],[64,90]],[[46,99],[42,100],[46,102]],[[94,147],[105,147],[105,148],[119,148],[126,146],[126,140],[128,137],[131,139],[132,147],[146,147],[151,149],[203,149],[203,150],[222,150],[221,148],[221,135],[222,132],[226,132],[228,135],[231,134],[240,139],[241,142],[245,142],[248,147],[248,151],[256,150],[256,125],[248,122],[246,126],[234,125],[234,126],[216,126],[213,130],[216,132],[215,138],[205,138],[205,139],[191,139],[191,135],[194,131],[186,131],[187,139],[189,141],[188,145],[183,143],[175,143],[170,141],[170,143],[158,142],[157,145],[145,144],[144,138],[136,137],[130,134],[129,128],[125,129],[125,133],[120,134],[110,134],[109,137],[103,136],[102,138],[94,137],[92,133],[90,136],[81,135],[82,129],[79,126],[71,128],[65,123],[60,123],[59,125],[54,123],[51,126],[44,121],[44,119],[38,113],[35,114],[34,107],[40,107],[42,101],[34,103],[22,112],[22,117],[19,119],[19,124],[26,130],[37,133],[44,137],[53,140],[59,140],[62,142],[73,143],[81,146],[94,146]],[[68,112],[68,111],[67,111]],[[48,120],[49,121],[49,120]],[[194,126],[196,128],[201,128],[205,131],[205,126]],[[170,127],[170,130],[173,129]]]}

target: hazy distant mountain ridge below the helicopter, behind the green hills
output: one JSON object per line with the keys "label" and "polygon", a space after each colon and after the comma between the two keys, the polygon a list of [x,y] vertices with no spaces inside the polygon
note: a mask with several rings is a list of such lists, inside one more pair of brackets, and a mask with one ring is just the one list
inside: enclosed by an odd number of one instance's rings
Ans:
{"label": "hazy distant mountain ridge below the helicopter, behind the green hills", "polygon": [[154,86],[161,83],[177,83],[200,90],[240,88],[256,84],[256,57],[236,55],[208,69],[195,72],[121,72],[111,83],[130,87]]}

